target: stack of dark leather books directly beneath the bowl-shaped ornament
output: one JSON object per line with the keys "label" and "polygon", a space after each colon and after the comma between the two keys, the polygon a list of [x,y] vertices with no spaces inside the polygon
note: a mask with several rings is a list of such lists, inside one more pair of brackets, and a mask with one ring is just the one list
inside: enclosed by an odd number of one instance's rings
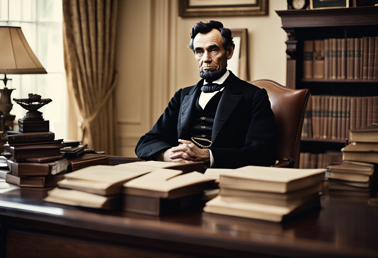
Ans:
{"label": "stack of dark leather books directly beneath the bowl-shaped ornament", "polygon": [[60,153],[62,140],[54,140],[53,132],[8,131],[5,150],[10,153],[7,183],[24,187],[51,187],[63,179],[68,161]]}

